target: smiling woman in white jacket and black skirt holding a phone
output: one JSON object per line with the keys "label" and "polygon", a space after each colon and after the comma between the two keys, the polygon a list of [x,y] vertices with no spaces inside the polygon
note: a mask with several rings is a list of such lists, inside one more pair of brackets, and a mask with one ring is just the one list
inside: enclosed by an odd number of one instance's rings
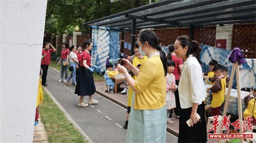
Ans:
{"label": "smiling woman in white jacket and black skirt holding a phone", "polygon": [[[177,37],[175,52],[185,62],[180,76],[180,124],[178,143],[206,143],[207,130],[204,116],[204,100],[207,97],[202,68],[196,59],[201,48],[189,36]],[[197,118],[197,114],[201,119]],[[186,123],[191,118],[192,126]]]}

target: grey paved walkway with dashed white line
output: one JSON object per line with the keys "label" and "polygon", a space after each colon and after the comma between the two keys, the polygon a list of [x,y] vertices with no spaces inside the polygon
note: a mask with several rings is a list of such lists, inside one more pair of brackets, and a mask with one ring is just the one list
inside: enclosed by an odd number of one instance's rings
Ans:
{"label": "grey paved walkway with dashed white line", "polygon": [[[122,128],[126,117],[125,108],[97,93],[94,98],[99,104],[77,107],[79,96],[74,94],[75,87],[58,83],[59,78],[60,74],[49,68],[47,89],[94,143],[125,143],[127,130]],[[96,89],[99,90],[97,82]],[[88,100],[88,97],[84,99]],[[166,132],[166,142],[177,143],[177,137]]]}

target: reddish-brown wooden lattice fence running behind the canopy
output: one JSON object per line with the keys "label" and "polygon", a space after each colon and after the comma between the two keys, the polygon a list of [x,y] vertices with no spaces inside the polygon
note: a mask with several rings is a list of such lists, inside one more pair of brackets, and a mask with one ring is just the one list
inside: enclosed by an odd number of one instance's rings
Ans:
{"label": "reddish-brown wooden lattice fence running behind the canopy", "polygon": [[[162,41],[162,45],[169,45],[175,42],[175,39],[180,35],[189,35],[189,28],[169,28],[169,29],[156,29],[153,30],[158,38]],[[136,32],[136,37],[139,32]],[[44,37],[44,41],[51,41],[50,35]],[[88,40],[90,38],[89,34],[78,35],[76,45],[81,45],[83,40]],[[194,40],[198,41],[200,44],[215,46],[216,38],[216,26],[205,26],[204,28],[194,29]],[[121,32],[120,32],[121,41]],[[123,41],[131,43],[131,32],[124,32]],[[66,42],[71,45],[73,43],[73,36],[67,36]],[[58,38],[58,47],[61,48],[62,37]],[[121,42],[120,42],[120,47]],[[234,24],[233,25],[233,36],[232,36],[232,46],[231,48],[239,47],[244,50],[245,58],[256,58],[256,25],[253,24]],[[123,53],[131,56],[131,50],[126,48],[123,49]]]}

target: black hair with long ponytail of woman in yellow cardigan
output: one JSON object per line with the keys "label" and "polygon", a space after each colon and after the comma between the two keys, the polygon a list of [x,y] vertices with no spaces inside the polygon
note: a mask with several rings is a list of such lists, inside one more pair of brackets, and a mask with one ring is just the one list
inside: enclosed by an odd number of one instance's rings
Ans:
{"label": "black hair with long ponytail of woman in yellow cardigan", "polygon": [[140,42],[144,43],[144,42],[147,41],[148,45],[151,45],[151,47],[156,48],[157,50],[159,50],[160,59],[161,59],[162,64],[163,64],[164,75],[166,76],[166,73],[167,73],[166,54],[162,50],[162,48],[159,46],[159,40],[157,38],[157,35],[153,31],[145,30],[145,31],[142,31],[139,34],[138,37],[140,39]]}

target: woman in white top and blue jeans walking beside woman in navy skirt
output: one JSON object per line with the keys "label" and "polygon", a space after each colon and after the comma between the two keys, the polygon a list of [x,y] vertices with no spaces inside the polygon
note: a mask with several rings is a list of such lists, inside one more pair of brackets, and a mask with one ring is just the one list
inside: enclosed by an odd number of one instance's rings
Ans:
{"label": "woman in white top and blue jeans walking beside woman in navy skirt", "polygon": [[70,79],[72,79],[73,85],[76,85],[76,69],[78,69],[78,60],[76,56],[76,46],[73,45],[70,47],[70,55],[69,55],[69,60],[70,60],[70,67],[73,67],[73,70],[71,72],[71,75],[67,78],[67,80],[64,81],[65,84],[69,85]]}

